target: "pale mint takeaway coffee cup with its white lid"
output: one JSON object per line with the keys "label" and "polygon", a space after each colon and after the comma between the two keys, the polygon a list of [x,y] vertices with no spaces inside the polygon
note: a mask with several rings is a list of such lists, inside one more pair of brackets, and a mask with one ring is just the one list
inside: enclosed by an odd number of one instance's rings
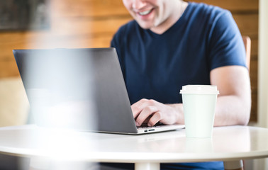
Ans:
{"label": "pale mint takeaway coffee cup with its white lid", "polygon": [[219,94],[217,86],[182,86],[186,137],[211,137]]}

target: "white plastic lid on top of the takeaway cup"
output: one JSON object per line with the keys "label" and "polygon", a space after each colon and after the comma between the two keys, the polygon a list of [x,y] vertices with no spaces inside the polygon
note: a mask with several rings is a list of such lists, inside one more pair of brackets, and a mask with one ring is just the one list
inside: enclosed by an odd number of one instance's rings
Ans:
{"label": "white plastic lid on top of the takeaway cup", "polygon": [[186,85],[182,86],[180,94],[219,94],[214,85]]}

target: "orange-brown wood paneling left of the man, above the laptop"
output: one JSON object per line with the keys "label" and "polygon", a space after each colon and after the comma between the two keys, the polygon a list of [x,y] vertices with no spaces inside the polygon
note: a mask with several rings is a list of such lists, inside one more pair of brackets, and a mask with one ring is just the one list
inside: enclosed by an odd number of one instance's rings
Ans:
{"label": "orange-brown wood paneling left of the man, above the laptop", "polygon": [[0,33],[0,77],[19,75],[13,49],[109,47],[131,19],[121,0],[53,0],[50,18],[49,30]]}

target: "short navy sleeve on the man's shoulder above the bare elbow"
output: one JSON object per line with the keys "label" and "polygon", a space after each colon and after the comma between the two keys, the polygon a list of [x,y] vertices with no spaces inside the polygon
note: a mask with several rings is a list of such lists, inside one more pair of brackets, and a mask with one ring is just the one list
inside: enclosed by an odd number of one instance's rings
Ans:
{"label": "short navy sleeve on the man's shoulder above the bare elbow", "polygon": [[245,46],[240,30],[229,11],[220,13],[211,26],[208,42],[211,70],[228,65],[245,64]]}

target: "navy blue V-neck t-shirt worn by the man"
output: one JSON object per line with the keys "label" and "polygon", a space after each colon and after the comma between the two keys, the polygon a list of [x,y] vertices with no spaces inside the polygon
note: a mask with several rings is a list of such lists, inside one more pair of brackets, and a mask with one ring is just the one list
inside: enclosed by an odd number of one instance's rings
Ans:
{"label": "navy blue V-neck t-shirt worn by the man", "polygon": [[[178,13],[179,15],[179,13]],[[114,35],[130,103],[142,98],[182,103],[179,90],[186,84],[211,84],[217,67],[245,66],[245,47],[229,11],[189,3],[179,21],[158,35],[136,21]],[[162,164],[162,169],[223,169],[223,162]]]}

